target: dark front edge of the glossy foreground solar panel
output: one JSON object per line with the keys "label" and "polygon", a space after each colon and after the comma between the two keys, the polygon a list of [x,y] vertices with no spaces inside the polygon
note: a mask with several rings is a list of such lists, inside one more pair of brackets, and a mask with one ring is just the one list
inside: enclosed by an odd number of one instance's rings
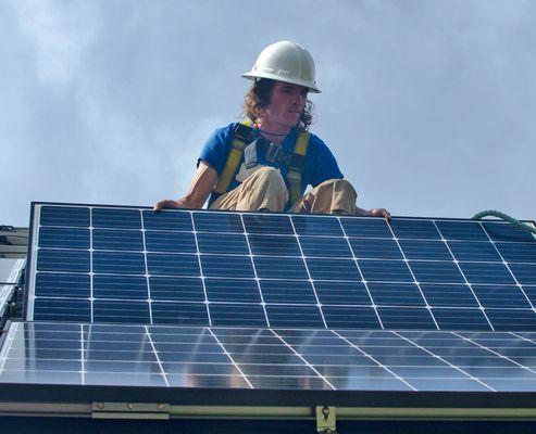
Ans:
{"label": "dark front edge of the glossy foreground solar panel", "polygon": [[186,388],[59,384],[0,384],[0,401],[91,404],[165,403],[213,406],[338,406],[388,408],[534,408],[529,392],[398,392]]}

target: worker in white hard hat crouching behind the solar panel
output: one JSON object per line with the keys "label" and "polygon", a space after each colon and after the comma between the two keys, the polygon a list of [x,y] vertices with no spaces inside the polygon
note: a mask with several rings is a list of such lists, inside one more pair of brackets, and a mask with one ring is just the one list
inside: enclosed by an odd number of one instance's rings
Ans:
{"label": "worker in white hard hat crouching behind the solar panel", "polygon": [[[279,41],[266,47],[249,73],[245,97],[249,120],[216,129],[204,144],[188,192],[162,200],[163,208],[319,213],[384,217],[385,208],[363,209],[327,145],[309,132],[312,103],[320,93],[311,54]],[[304,193],[307,187],[312,189]]]}

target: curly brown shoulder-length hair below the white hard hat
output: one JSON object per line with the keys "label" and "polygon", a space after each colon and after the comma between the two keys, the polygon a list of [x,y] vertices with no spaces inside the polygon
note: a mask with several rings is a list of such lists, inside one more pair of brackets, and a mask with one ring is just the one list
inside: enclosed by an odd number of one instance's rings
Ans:
{"label": "curly brown shoulder-length hair below the white hard hat", "polygon": [[[269,78],[255,80],[244,97],[244,113],[251,120],[258,122],[266,114],[265,107],[270,104],[270,95],[274,84],[275,81]],[[298,129],[303,131],[309,129],[309,126],[313,123],[313,103],[307,100],[303,112],[301,112],[298,119]]]}

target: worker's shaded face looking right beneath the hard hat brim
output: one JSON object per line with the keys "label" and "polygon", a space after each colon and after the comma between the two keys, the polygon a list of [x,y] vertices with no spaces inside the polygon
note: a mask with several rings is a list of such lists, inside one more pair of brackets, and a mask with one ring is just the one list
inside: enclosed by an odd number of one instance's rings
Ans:
{"label": "worker's shaded face looking right beneath the hard hat brim", "polygon": [[265,108],[265,120],[283,128],[295,127],[306,106],[308,92],[309,89],[303,86],[275,81],[270,104]]}

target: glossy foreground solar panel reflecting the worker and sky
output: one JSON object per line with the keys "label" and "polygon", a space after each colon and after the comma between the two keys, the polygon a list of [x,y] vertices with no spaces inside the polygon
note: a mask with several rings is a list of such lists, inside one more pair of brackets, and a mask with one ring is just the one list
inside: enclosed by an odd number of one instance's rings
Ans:
{"label": "glossy foreground solar panel reflecting the worker and sky", "polygon": [[15,322],[0,383],[534,392],[536,333]]}

